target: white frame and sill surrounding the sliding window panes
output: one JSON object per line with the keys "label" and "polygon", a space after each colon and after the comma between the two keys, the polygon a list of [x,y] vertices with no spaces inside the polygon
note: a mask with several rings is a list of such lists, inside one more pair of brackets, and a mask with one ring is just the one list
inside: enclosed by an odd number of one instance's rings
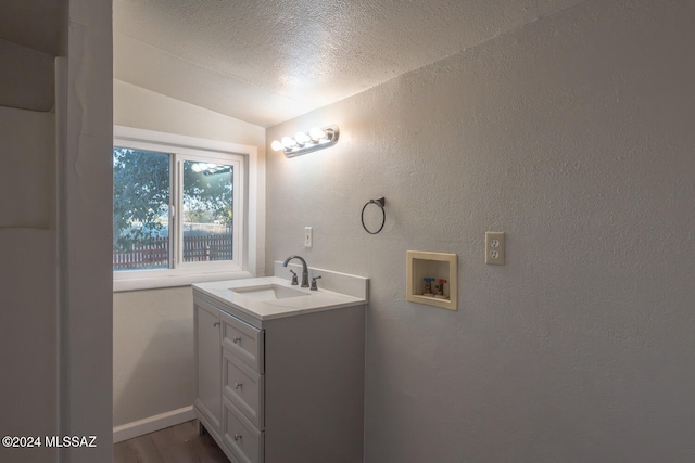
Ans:
{"label": "white frame and sill surrounding the sliding window panes", "polygon": [[[257,198],[249,183],[257,180],[257,151],[255,146],[177,136],[130,127],[114,126],[114,146],[134,147],[159,153],[167,153],[174,159],[172,175],[170,202],[174,214],[182,210],[182,163],[203,160],[233,166],[233,260],[210,262],[182,262],[182,222],[176,218],[176,233],[170,233],[169,249],[174,268],[152,270],[118,270],[113,272],[114,292],[155,287],[184,286],[205,281],[232,280],[254,276],[256,273],[256,252],[252,249],[256,240],[250,234],[257,232],[257,214],[249,214],[257,206]],[[253,187],[256,187],[255,184]],[[251,193],[251,194],[249,194]]]}

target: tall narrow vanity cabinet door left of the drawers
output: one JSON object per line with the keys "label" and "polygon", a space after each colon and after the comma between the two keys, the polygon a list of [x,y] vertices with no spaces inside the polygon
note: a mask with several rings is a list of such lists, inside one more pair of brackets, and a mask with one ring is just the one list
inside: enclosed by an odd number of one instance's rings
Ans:
{"label": "tall narrow vanity cabinet door left of the drawers", "polygon": [[[195,304],[195,404],[216,433],[222,430],[222,346],[219,310]],[[210,430],[210,429],[208,429]]]}

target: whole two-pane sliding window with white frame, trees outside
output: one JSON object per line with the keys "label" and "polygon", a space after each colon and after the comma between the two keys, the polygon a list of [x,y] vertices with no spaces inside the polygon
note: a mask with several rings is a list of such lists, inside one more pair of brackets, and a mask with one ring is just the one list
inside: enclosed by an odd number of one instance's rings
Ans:
{"label": "whole two-pane sliding window with white frame, trees outside", "polygon": [[244,270],[249,156],[220,147],[239,146],[116,128],[114,287],[134,280],[149,280],[146,287],[189,284]]}

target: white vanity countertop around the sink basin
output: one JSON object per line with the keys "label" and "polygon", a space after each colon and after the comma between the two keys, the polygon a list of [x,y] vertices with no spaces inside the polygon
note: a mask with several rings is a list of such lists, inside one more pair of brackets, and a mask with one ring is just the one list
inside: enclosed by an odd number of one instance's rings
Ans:
{"label": "white vanity countertop around the sink basin", "polygon": [[[232,291],[264,284],[285,286],[306,293],[306,295],[285,299],[258,300],[244,296],[243,293],[235,293]],[[292,317],[301,313],[340,309],[367,303],[366,298],[349,296],[333,291],[321,290],[320,287],[318,291],[309,291],[308,287],[293,286],[289,280],[278,276],[198,283],[194,284],[193,287],[223,305],[231,306],[233,309],[261,321]]]}

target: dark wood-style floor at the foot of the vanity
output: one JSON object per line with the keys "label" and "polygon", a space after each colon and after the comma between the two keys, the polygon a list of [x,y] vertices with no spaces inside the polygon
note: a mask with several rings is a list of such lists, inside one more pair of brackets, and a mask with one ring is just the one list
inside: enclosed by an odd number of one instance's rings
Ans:
{"label": "dark wood-style floor at the foot of the vanity", "polygon": [[114,463],[229,463],[208,434],[198,435],[198,421],[124,440],[113,446]]}

